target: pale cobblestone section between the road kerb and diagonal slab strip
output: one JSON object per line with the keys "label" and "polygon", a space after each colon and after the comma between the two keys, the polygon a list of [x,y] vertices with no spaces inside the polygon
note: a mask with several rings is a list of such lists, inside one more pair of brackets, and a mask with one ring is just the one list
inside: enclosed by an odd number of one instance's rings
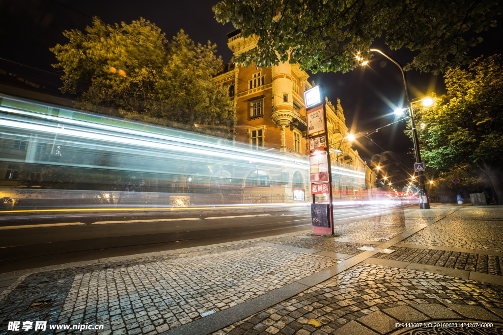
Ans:
{"label": "pale cobblestone section between the road kerb and diagonal slab strip", "polygon": [[105,330],[116,333],[158,333],[340,262],[245,246],[34,274],[0,302],[0,322],[14,314],[49,323],[108,323]]}

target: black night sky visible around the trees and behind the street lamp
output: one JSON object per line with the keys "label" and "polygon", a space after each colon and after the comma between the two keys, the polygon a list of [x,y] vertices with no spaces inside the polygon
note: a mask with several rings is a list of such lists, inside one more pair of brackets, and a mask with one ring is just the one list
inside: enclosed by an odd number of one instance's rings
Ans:
{"label": "black night sky visible around the trees and behind the street lamp", "polygon": [[[62,32],[67,29],[84,30],[93,16],[108,24],[130,23],[140,17],[155,23],[171,39],[180,29],[196,42],[216,43],[224,62],[232,56],[227,48],[226,34],[233,30],[231,24],[221,25],[211,11],[216,0],[183,1],[69,1],[69,0],[0,0],[0,69],[15,72],[39,83],[50,93],[61,85],[59,73],[50,66],[55,63],[50,47],[67,42]],[[498,22],[499,23],[499,22]],[[482,42],[470,55],[491,55],[500,52],[501,28],[485,32]],[[374,48],[381,49],[402,65],[409,62],[413,53],[391,51],[377,41]],[[430,92],[444,93],[441,76],[408,71],[407,79],[411,98]],[[398,67],[382,56],[376,55],[369,66],[348,73],[318,73],[309,81],[322,84],[325,94],[333,104],[341,99],[346,124],[353,132],[372,133],[375,129],[394,121],[390,115],[396,106],[405,106],[403,81]],[[392,150],[407,167],[413,166],[412,142],[403,134],[405,121],[385,127],[370,135],[375,142],[360,136],[354,148],[363,159],[373,154]]]}

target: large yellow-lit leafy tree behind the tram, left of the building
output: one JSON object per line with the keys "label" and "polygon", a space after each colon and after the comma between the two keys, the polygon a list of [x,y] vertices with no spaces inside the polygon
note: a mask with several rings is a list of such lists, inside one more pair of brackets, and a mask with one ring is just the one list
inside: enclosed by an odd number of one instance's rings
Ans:
{"label": "large yellow-lit leafy tree behind the tram, left of the building", "polygon": [[144,19],[107,25],[94,18],[85,32],[63,35],[69,42],[50,49],[53,66],[63,69],[61,91],[77,94],[78,108],[112,108],[127,119],[192,131],[211,125],[225,137],[234,128],[234,106],[211,81],[222,66],[211,42],[196,45],[183,30],[168,42]]}

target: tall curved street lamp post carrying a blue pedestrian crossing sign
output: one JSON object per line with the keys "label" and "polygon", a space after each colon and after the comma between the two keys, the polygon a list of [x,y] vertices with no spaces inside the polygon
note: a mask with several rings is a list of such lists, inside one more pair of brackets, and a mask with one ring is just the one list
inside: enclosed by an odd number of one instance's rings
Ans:
{"label": "tall curved street lamp post carrying a blue pedestrian crossing sign", "polygon": [[[378,52],[393,63],[395,63],[396,66],[400,69],[402,72],[402,77],[403,77],[403,85],[405,86],[405,97],[407,98],[407,106],[409,109],[409,120],[410,120],[410,128],[412,131],[412,142],[414,144],[414,155],[415,155],[415,161],[416,163],[421,163],[421,152],[419,150],[419,144],[417,140],[417,132],[415,129],[415,123],[414,123],[414,111],[412,109],[412,100],[410,99],[409,95],[409,89],[408,89],[408,83],[407,83],[407,78],[405,76],[405,72],[403,71],[403,67],[398,63],[396,60],[385,54],[379,49],[370,49],[371,52]],[[423,174],[423,171],[417,172],[417,179],[419,181],[419,208],[421,209],[429,209],[430,208],[430,202],[428,201],[428,195],[426,192],[426,187],[425,187],[425,177]]]}

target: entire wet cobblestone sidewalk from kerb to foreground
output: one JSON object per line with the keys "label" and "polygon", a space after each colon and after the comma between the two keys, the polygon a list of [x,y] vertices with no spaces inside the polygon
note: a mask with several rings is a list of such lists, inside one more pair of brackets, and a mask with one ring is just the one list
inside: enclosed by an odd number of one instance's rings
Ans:
{"label": "entire wet cobblestone sidewalk from kerb to foreground", "polygon": [[[101,334],[501,334],[502,227],[503,207],[439,206],[341,225],[336,238],[286,234],[32,273],[0,294],[0,334],[30,333],[9,321],[102,324]],[[467,320],[479,327],[453,323]]]}

